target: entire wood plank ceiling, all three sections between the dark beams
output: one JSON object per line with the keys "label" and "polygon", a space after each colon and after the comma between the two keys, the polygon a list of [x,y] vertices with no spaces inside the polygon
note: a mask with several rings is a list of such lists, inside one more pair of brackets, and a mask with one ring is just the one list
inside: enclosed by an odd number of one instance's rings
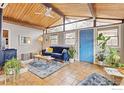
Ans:
{"label": "entire wood plank ceiling, all three sections between the dark beams", "polygon": [[[64,16],[93,17],[88,4],[85,3],[52,3]],[[124,4],[92,4],[96,18],[124,19]],[[35,12],[41,13],[36,15]],[[47,28],[62,18],[52,11],[54,18],[46,17],[46,6],[36,3],[10,3],[4,9],[4,21],[29,25],[38,29]]]}

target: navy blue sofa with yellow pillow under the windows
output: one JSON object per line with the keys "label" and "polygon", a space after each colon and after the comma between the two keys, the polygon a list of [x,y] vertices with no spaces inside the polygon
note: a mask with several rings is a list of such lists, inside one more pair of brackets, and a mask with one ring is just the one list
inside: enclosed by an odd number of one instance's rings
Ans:
{"label": "navy blue sofa with yellow pillow under the windows", "polygon": [[[69,55],[68,55],[68,49],[69,47],[64,47],[64,46],[50,46],[50,48],[53,48],[53,52],[49,53],[46,52],[46,49],[42,50],[42,55],[43,56],[51,56],[55,59],[60,59],[63,61],[68,61],[69,60]],[[66,51],[63,51],[63,50]]]}

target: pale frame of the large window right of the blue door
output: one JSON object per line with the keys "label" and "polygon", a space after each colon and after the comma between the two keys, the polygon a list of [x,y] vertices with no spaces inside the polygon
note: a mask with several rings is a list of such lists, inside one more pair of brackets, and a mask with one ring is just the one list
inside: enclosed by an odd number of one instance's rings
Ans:
{"label": "pale frame of the large window right of the blue door", "polygon": [[[113,27],[104,27],[104,28],[98,28],[97,29],[97,36],[99,35],[98,32],[100,31],[106,31],[106,30],[112,30],[112,29],[117,29],[117,35],[116,36],[110,36],[110,37],[117,37],[117,45],[107,45],[109,47],[113,47],[113,48],[119,48],[120,47],[120,34],[119,34],[119,26],[113,26]],[[97,41],[98,44],[98,41]]]}

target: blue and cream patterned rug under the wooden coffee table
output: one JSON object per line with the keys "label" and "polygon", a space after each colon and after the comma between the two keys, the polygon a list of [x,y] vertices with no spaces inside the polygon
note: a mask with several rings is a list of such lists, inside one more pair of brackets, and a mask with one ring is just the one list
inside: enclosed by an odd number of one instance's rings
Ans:
{"label": "blue and cream patterned rug under the wooden coffee table", "polygon": [[64,67],[67,63],[57,61],[43,62],[37,61],[29,63],[28,70],[40,78],[45,78]]}

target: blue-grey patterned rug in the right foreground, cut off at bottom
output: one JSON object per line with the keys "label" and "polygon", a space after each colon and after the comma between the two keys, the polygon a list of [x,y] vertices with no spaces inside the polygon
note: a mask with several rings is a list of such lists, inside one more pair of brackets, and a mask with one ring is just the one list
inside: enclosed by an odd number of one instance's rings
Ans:
{"label": "blue-grey patterned rug in the right foreground, cut off at bottom", "polygon": [[106,86],[106,85],[116,85],[116,84],[98,73],[93,73],[89,75],[85,80],[79,82],[78,85]]}

